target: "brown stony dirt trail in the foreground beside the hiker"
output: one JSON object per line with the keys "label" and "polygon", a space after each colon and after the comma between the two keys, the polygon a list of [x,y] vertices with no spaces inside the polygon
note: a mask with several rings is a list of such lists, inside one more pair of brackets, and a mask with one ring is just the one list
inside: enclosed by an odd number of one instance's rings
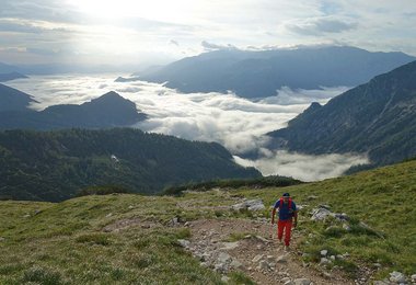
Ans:
{"label": "brown stony dirt trail in the foreground beside the hiker", "polygon": [[[299,253],[294,250],[297,235],[299,235],[296,231],[291,249],[286,252],[282,244],[279,244],[275,238],[270,239],[271,228],[265,221],[204,219],[190,221],[187,226],[192,237],[190,244],[186,248],[194,255],[201,258],[206,265],[212,266],[216,259],[221,259],[218,258],[219,254],[222,254],[222,259],[226,260],[229,254],[232,260],[238,261],[231,264],[231,267],[236,266],[257,284],[285,284],[297,278],[305,278],[313,284],[355,284],[339,273],[323,273],[302,266]],[[230,239],[231,235],[245,236],[245,238],[236,242],[224,242]],[[262,260],[265,261],[263,266],[259,265]],[[216,267],[217,271],[221,271],[221,266]]]}

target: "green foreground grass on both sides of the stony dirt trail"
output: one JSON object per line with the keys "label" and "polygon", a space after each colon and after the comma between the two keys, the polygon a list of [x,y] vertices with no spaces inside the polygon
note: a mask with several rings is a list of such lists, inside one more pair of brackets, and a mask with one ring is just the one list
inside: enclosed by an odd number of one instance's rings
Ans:
{"label": "green foreground grass on both sides of the stony dirt trail", "polygon": [[[299,204],[309,204],[301,212],[298,230],[304,233],[299,247],[312,259],[319,250],[330,249],[349,252],[353,265],[379,262],[384,274],[392,269],[416,272],[416,161],[285,191]],[[200,267],[177,246],[177,238],[186,238],[189,231],[166,227],[169,220],[177,215],[185,219],[233,217],[236,214],[224,209],[198,206],[231,205],[235,203],[233,196],[261,197],[271,205],[281,192],[242,189],[182,197],[123,194],[85,196],[59,204],[1,202],[0,284],[219,284],[218,274]],[[307,202],[310,195],[317,198]],[[184,210],[183,203],[192,207]],[[385,238],[359,230],[325,232],[327,225],[312,223],[308,215],[319,204],[328,204],[333,212],[365,221]],[[106,225],[132,217],[164,226],[102,231]]]}

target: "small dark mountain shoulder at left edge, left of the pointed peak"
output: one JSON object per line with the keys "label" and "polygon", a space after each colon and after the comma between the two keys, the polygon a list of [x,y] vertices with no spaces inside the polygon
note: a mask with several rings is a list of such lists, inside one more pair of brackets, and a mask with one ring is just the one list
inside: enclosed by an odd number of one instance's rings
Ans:
{"label": "small dark mountain shoulder at left edge, left of the pointed peak", "polygon": [[31,102],[35,102],[31,95],[0,84],[0,112],[26,111]]}

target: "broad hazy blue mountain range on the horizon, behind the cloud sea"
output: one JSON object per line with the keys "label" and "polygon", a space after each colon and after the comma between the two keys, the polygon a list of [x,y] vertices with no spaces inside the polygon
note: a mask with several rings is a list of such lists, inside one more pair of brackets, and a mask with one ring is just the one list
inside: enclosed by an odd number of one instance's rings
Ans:
{"label": "broad hazy blue mountain range on the horizon, behind the cloud sea", "polygon": [[151,82],[167,82],[167,87],[185,93],[232,91],[243,98],[265,98],[276,95],[281,87],[356,87],[415,59],[403,53],[370,53],[347,46],[235,49],[184,58],[135,76]]}

